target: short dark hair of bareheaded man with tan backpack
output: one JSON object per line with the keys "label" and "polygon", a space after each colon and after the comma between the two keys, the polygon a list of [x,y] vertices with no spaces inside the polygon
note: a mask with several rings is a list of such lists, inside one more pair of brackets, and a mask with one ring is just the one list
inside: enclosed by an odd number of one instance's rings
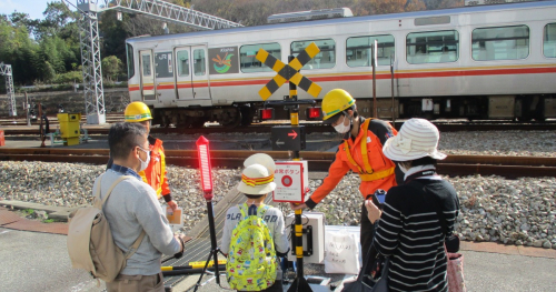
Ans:
{"label": "short dark hair of bareheaded man with tan backpack", "polygon": [[[140,123],[120,122],[110,127],[108,145],[112,159],[126,159],[129,152],[139,145],[139,137],[145,137],[147,130]],[[139,145],[141,147],[141,145]]]}

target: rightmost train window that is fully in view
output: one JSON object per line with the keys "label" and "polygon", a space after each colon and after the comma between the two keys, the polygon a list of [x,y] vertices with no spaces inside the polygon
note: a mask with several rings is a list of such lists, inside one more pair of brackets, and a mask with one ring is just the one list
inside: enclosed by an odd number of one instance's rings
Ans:
{"label": "rightmost train window that is fully in view", "polygon": [[529,56],[529,28],[515,26],[474,29],[471,52],[475,61],[525,59]]}

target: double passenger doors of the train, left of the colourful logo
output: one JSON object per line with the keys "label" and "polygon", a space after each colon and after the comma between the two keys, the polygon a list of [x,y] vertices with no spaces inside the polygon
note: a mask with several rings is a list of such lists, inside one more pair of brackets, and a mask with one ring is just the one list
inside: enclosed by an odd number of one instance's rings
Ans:
{"label": "double passenger doors of the train, left of the colourful logo", "polygon": [[207,47],[176,48],[176,83],[179,100],[210,99]]}

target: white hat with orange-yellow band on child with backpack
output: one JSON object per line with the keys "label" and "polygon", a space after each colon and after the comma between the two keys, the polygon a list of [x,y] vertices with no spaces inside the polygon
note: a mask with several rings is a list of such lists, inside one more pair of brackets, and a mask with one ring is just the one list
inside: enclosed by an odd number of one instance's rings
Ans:
{"label": "white hat with orange-yellow band on child with backpack", "polygon": [[261,164],[245,168],[238,191],[247,194],[266,194],[276,189],[275,173]]}

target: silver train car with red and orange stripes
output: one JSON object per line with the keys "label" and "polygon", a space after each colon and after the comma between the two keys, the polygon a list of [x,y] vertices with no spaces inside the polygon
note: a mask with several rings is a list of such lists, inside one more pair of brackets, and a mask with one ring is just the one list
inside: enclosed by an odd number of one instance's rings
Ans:
{"label": "silver train car with red and orange stripes", "polygon": [[[315,42],[320,52],[301,73],[322,88],[316,100],[342,88],[368,117],[375,40],[379,118],[556,118],[556,1],[132,38],[129,93],[152,108],[156,123],[248,124],[264,107],[258,91],[276,75],[257,51],[287,63]],[[269,100],[287,94],[282,85]],[[301,90],[298,98],[314,99]]]}

